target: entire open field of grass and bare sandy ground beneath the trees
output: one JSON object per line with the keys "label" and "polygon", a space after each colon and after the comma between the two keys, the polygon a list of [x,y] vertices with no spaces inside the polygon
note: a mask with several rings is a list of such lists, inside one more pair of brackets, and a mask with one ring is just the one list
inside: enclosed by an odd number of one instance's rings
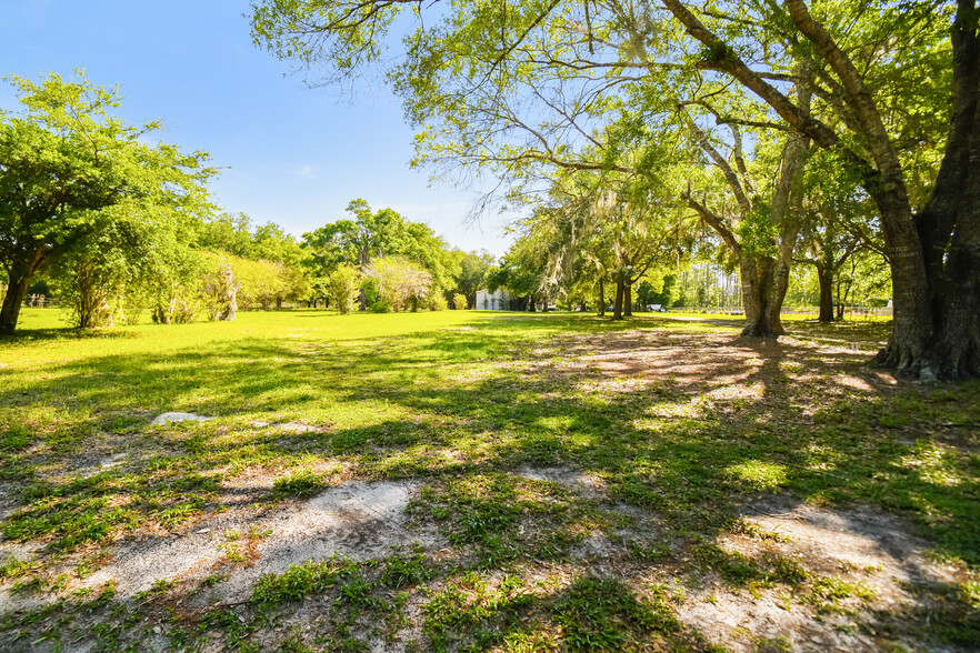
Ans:
{"label": "entire open field of grass and bare sandy ground beneath the trees", "polygon": [[22,326],[0,650],[978,649],[980,384],[887,323]]}

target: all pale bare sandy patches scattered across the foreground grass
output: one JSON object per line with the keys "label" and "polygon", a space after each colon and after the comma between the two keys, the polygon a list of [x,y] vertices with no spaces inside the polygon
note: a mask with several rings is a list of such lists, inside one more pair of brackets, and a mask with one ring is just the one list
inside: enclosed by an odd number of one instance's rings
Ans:
{"label": "all pale bare sandy patches scattered across the foreground grass", "polygon": [[[524,468],[516,473],[561,483],[583,499],[603,498],[601,482],[571,469]],[[174,605],[193,610],[216,602],[244,603],[262,574],[282,573],[291,564],[326,560],[333,553],[363,561],[382,557],[417,542],[430,554],[439,555],[440,551],[448,551],[446,541],[432,529],[412,523],[406,514],[419,486],[418,482],[352,481],[266,514],[223,514],[209,521],[207,526],[194,526],[176,536],[122,539],[110,547],[104,566],[81,585],[97,587],[112,579],[119,596],[132,599],[160,579],[178,581],[184,592],[177,591]],[[528,577],[558,575],[571,582],[582,573],[599,573],[622,577],[639,593],[652,582],[673,582],[669,569],[641,569],[624,562],[628,559],[626,544],[656,539],[657,515],[614,502],[610,505],[642,519],[633,528],[614,533],[616,539],[587,539],[573,551],[572,562],[568,564],[528,566],[523,570]],[[817,619],[813,610],[782,601],[778,591],[763,590],[753,595],[747,590],[730,589],[709,574],[700,580],[700,589],[688,591],[678,603],[678,617],[686,626],[700,631],[708,641],[732,651],[756,651],[760,640],[774,637],[783,637],[794,651],[880,650],[880,642],[868,634],[877,625],[876,611],[892,615],[913,612],[922,606],[917,605],[919,600],[908,591],[909,584],[953,582],[962,577],[961,571],[930,562],[926,556],[928,543],[911,535],[909,524],[901,519],[880,510],[831,511],[772,495],[743,505],[741,512],[747,522],[781,536],[777,541],[760,541],[728,535],[721,541],[722,547],[746,555],[779,552],[797,560],[808,571],[864,583],[873,590],[873,597],[868,602],[850,600],[847,606],[853,610],[852,614]],[[242,535],[228,540],[224,536],[228,532]],[[259,536],[249,538],[249,533]],[[229,544],[241,547],[244,562],[228,560]],[[214,574],[227,575],[227,580],[209,592],[181,596]],[[11,594],[9,587],[0,594],[6,610],[37,607],[39,600],[39,596]],[[419,605],[414,607],[418,611]],[[287,620],[287,627],[307,625],[307,620],[316,619],[314,613],[316,604],[298,607]],[[416,621],[421,619],[419,614],[416,617]],[[858,623],[863,627],[858,629]],[[400,640],[409,641],[417,635],[417,626],[412,624]],[[90,645],[84,641],[79,644],[79,651]],[[909,644],[916,647],[914,643]],[[376,650],[403,647],[399,642],[379,641]]]}

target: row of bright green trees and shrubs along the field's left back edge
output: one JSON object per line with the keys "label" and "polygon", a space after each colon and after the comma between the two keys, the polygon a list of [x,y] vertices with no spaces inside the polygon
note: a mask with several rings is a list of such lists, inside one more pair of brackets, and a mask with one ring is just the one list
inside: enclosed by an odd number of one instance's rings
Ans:
{"label": "row of bright green trees and shrubs along the field's left back edge", "polygon": [[233,320],[283,302],[348,312],[352,298],[373,311],[472,308],[493,262],[363,200],[300,240],[219,212],[209,155],[148,144],[163,125],[120,120],[118,90],[81,72],[9,81],[20,111],[0,114],[0,333],[39,291],[79,328]]}

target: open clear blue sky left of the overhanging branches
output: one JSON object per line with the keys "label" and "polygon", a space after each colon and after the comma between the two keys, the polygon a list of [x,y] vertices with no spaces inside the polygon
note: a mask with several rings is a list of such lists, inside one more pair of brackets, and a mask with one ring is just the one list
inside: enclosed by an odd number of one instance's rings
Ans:
{"label": "open clear blue sky left of the overhanging branches", "polygon": [[[47,71],[118,84],[121,115],[162,119],[160,140],[204,150],[222,168],[212,194],[226,211],[301,235],[363,198],[428,223],[449,244],[502,254],[504,219],[467,225],[476,194],[409,170],[412,132],[376,84],[354,96],[307,88],[249,36],[248,0],[0,0],[0,73]],[[0,107],[16,110],[12,89]]]}

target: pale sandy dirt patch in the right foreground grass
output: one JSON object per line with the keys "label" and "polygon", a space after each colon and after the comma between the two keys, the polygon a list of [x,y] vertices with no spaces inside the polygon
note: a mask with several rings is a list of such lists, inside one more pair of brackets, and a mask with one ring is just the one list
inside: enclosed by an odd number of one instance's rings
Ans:
{"label": "pale sandy dirt patch in the right foreground grass", "polygon": [[[726,535],[719,540],[722,549],[753,557],[779,554],[822,577],[867,587],[868,597],[846,597],[832,610],[814,610],[788,601],[778,590],[733,590],[719,579],[709,580],[679,606],[678,615],[732,651],[754,652],[766,640],[793,651],[877,651],[882,646],[877,633],[888,627],[877,615],[914,610],[912,584],[966,580],[962,571],[930,561],[928,544],[911,534],[911,525],[879,509],[831,511],[770,496],[743,505],[741,514],[760,532]],[[909,650],[921,645],[904,644]]]}

